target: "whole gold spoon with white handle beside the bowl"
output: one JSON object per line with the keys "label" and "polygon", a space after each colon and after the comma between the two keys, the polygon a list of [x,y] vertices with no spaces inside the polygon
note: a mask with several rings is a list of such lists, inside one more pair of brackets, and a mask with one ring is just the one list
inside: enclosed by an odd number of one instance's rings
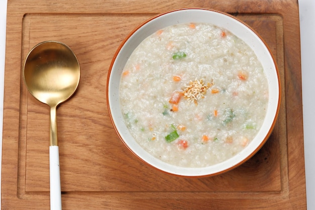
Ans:
{"label": "whole gold spoon with white handle beside the bowl", "polygon": [[50,107],[50,209],[61,209],[56,108],[73,95],[79,81],[80,64],[72,50],[61,42],[41,42],[26,57],[24,82],[37,100]]}

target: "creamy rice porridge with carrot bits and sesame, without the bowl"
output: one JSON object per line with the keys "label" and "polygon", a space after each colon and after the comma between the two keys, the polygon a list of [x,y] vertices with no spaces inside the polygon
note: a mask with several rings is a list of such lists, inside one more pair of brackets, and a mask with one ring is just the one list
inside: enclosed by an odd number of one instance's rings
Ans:
{"label": "creamy rice porridge with carrot bits and sesame, without the bowl", "polygon": [[172,165],[206,167],[250,144],[266,115],[268,83],[254,51],[229,31],[179,24],[133,51],[119,98],[144,150]]}

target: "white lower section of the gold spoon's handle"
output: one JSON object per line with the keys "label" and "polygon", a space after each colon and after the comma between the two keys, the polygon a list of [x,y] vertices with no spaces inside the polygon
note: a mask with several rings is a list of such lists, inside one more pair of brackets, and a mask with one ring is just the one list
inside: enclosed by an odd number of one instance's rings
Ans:
{"label": "white lower section of the gold spoon's handle", "polygon": [[50,210],[61,210],[59,147],[49,146]]}

